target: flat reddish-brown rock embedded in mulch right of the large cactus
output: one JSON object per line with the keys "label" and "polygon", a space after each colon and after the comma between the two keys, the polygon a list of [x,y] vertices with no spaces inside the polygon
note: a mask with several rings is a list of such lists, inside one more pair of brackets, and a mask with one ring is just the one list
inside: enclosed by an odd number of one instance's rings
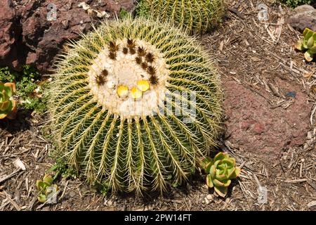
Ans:
{"label": "flat reddish-brown rock embedded in mulch right of the large cactus", "polygon": [[299,86],[281,80],[278,84],[284,91],[296,91],[294,104],[287,109],[270,108],[263,97],[235,81],[224,84],[225,124],[231,143],[268,158],[277,158],[284,148],[303,145],[310,129],[311,105]]}

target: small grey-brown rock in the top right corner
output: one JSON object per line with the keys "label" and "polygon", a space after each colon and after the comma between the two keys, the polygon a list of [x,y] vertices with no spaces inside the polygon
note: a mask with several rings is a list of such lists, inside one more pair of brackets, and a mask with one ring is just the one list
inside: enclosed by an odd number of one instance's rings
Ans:
{"label": "small grey-brown rock in the top right corner", "polygon": [[316,9],[309,5],[298,6],[294,8],[287,23],[300,32],[306,27],[316,31]]}

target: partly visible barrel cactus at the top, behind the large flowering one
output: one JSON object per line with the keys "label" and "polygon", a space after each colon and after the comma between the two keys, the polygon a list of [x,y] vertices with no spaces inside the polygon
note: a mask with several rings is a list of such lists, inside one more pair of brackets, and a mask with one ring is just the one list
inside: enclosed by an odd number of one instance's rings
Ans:
{"label": "partly visible barrel cactus at the top, behind the large flowering one", "polygon": [[203,33],[220,23],[224,0],[143,0],[150,14],[180,25],[188,32]]}

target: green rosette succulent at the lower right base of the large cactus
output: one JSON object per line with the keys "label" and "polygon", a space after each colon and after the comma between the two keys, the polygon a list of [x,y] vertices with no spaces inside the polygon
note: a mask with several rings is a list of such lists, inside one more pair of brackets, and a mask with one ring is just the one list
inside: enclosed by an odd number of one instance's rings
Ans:
{"label": "green rosette succulent at the lower right base of the large cactus", "polygon": [[235,158],[231,158],[228,153],[218,153],[213,160],[204,158],[201,167],[206,172],[206,184],[209,188],[221,197],[225,197],[230,186],[231,179],[235,179],[240,174],[240,168],[236,167]]}

